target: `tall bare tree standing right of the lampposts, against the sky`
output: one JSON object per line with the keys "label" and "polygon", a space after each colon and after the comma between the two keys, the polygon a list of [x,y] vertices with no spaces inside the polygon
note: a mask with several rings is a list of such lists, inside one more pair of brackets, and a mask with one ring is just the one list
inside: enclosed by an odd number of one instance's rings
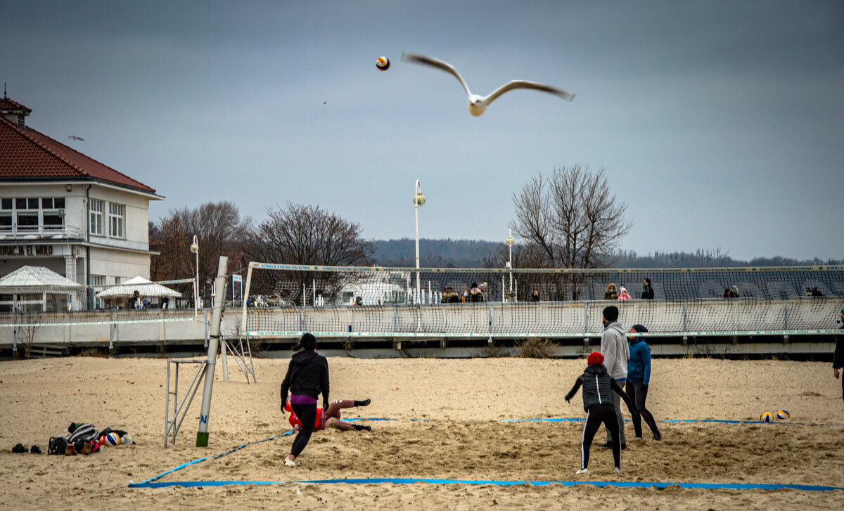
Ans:
{"label": "tall bare tree standing right of the lampposts, against the sky", "polygon": [[[535,175],[513,194],[513,234],[538,255],[539,267],[602,268],[612,266],[620,239],[630,232],[627,205],[617,202],[603,169],[573,165]],[[582,282],[564,274],[555,280],[552,298],[577,299]]]}

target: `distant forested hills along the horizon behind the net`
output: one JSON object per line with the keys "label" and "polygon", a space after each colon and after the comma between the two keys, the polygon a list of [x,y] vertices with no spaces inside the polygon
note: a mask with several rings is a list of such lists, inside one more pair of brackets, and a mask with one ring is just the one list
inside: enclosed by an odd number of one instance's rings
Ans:
{"label": "distant forested hills along the horizon behind the net", "polygon": [[[374,239],[375,264],[378,266],[416,266],[414,239]],[[500,241],[481,239],[419,239],[419,266],[427,268],[481,268],[484,261],[501,250]],[[789,257],[755,257],[750,261],[733,259],[721,250],[694,252],[654,252],[636,254],[621,250],[616,255],[616,268],[705,268],[725,266],[826,266],[841,265],[844,260],[798,260]]]}

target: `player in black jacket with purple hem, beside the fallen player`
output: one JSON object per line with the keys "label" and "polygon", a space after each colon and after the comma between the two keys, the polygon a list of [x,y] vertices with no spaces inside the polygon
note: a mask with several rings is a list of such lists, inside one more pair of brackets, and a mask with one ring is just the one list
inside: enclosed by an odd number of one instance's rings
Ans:
{"label": "player in black jacket with purple hem, beside the fallen player", "polygon": [[322,393],[322,407],[328,407],[328,361],[317,354],[317,337],[304,334],[294,349],[302,349],[290,358],[287,374],[281,382],[281,413],[284,415],[284,403],[287,391],[290,391],[290,406],[300,418],[302,427],[290,448],[290,455],[284,465],[295,466],[296,458],[308,444],[317,421],[317,396]]}

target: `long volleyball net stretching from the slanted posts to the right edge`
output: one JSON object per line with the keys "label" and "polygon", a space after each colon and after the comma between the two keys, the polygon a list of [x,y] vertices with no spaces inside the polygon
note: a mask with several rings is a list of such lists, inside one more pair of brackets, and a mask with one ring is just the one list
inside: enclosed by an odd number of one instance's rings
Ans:
{"label": "long volleyball net stretching from the slanted posts to the right edge", "polygon": [[833,334],[844,307],[844,266],[511,270],[252,262],[243,304],[245,335],[257,337],[600,336],[609,305],[619,308],[625,328],[645,325],[650,336]]}

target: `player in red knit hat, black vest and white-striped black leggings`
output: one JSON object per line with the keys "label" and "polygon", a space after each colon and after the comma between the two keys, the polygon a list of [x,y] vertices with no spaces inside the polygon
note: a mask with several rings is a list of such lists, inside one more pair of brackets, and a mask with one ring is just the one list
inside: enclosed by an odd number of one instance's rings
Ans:
{"label": "player in red knit hat, black vest and white-striped black leggings", "polygon": [[592,438],[598,432],[598,427],[603,425],[609,431],[610,438],[613,438],[613,460],[614,471],[621,473],[621,439],[619,437],[619,423],[615,417],[615,406],[613,404],[613,392],[621,396],[627,408],[632,411],[633,405],[625,391],[621,389],[618,382],[607,373],[603,365],[601,352],[591,352],[587,358],[587,367],[583,374],[577,377],[575,385],[565,395],[565,401],[577,393],[583,386],[583,410],[586,411],[586,422],[583,424],[583,440],[581,444],[581,469],[576,474],[587,474],[589,466],[589,449],[592,447]]}

